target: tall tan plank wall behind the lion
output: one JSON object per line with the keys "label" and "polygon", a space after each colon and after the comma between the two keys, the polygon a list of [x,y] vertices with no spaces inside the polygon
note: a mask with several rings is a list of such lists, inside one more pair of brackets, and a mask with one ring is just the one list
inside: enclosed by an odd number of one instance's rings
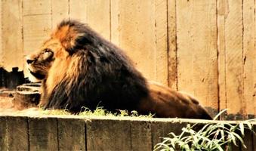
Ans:
{"label": "tall tan plank wall behind the lion", "polygon": [[230,118],[256,112],[254,0],[1,0],[0,66],[23,69],[63,18],[88,23],[148,79]]}

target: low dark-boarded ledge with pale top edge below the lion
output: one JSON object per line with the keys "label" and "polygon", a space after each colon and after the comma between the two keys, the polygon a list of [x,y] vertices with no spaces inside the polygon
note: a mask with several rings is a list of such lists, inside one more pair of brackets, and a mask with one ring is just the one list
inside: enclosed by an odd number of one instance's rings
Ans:
{"label": "low dark-boarded ledge with pale top edge below the lion", "polygon": [[[5,115],[0,116],[0,150],[153,150],[160,137],[171,131],[178,134],[187,123],[209,122],[217,121]],[[256,123],[253,124],[256,130]],[[246,150],[253,151],[256,137],[247,131],[245,143]]]}

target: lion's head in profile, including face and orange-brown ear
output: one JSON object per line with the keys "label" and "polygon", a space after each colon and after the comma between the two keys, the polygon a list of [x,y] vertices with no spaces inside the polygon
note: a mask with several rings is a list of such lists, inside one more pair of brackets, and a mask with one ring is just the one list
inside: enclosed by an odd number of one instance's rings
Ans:
{"label": "lion's head in profile, including face and orange-brown ear", "polygon": [[54,66],[54,62],[57,62],[55,66],[60,66],[60,61],[66,62],[74,50],[77,38],[79,35],[83,35],[77,26],[82,26],[82,24],[80,25],[75,21],[73,23],[63,21],[51,34],[51,38],[44,42],[39,51],[26,57],[27,69],[31,74],[29,79],[32,82],[46,79],[49,69]]}

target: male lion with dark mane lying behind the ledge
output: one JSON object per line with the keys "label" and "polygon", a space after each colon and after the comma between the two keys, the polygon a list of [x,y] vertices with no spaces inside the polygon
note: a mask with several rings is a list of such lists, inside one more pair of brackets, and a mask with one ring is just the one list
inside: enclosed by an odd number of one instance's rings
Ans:
{"label": "male lion with dark mane lying behind the ledge", "polygon": [[76,20],[63,20],[26,64],[29,79],[42,82],[44,109],[76,113],[103,106],[160,118],[211,119],[195,98],[147,81],[124,51]]}

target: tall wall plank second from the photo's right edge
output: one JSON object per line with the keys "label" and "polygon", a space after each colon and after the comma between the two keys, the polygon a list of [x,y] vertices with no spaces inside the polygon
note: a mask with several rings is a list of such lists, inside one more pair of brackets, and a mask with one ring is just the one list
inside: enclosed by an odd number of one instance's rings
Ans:
{"label": "tall wall plank second from the photo's right edge", "polygon": [[242,119],[243,100],[243,54],[242,54],[242,1],[229,1],[225,18],[226,48],[226,95],[231,119]]}

